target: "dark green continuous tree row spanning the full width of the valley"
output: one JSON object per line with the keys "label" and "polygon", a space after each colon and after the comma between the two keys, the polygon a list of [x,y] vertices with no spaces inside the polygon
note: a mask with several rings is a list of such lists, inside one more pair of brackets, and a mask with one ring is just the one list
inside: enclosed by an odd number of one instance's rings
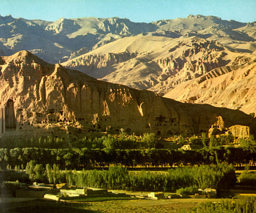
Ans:
{"label": "dark green continuous tree row spanning the full width of the valley", "polygon": [[60,169],[109,167],[173,167],[180,165],[218,164],[221,162],[244,165],[255,162],[256,153],[243,148],[218,146],[197,150],[173,149],[42,149],[15,148],[0,149],[0,165],[6,168],[15,165],[24,168],[30,161],[36,163],[57,164]]}

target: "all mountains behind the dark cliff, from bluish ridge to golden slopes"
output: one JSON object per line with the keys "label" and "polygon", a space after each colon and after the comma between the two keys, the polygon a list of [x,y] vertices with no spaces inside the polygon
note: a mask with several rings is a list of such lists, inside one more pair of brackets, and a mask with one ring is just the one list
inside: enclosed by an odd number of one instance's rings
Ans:
{"label": "all mountains behind the dark cliff, from bluish ridge to golden slopes", "polygon": [[0,55],[24,49],[103,81],[256,112],[256,22],[202,15],[151,23],[0,16]]}

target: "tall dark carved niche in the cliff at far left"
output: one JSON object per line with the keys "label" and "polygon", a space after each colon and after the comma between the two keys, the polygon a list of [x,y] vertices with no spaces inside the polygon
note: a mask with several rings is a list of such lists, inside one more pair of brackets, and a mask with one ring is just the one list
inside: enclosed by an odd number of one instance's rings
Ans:
{"label": "tall dark carved niche in the cliff at far left", "polygon": [[13,100],[9,99],[4,107],[4,119],[6,130],[16,129],[16,119],[13,107]]}

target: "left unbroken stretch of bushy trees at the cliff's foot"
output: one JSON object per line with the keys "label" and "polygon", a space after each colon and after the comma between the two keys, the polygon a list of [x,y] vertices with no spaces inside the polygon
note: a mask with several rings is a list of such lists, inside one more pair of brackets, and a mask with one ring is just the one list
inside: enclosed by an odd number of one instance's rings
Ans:
{"label": "left unbroken stretch of bushy trees at the cliff's foot", "polygon": [[101,137],[78,138],[76,135],[65,135],[64,138],[52,135],[40,136],[39,138],[16,138],[5,136],[0,139],[0,148],[88,148],[88,149],[147,149],[159,148],[161,140],[154,133],[145,133],[141,136],[126,135],[103,135]]}

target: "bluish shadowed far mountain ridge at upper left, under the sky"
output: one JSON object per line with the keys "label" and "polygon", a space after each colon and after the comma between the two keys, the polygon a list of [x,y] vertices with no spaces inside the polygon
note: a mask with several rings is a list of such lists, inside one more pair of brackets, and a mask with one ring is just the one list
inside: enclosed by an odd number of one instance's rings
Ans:
{"label": "bluish shadowed far mountain ridge at upper left, under the sky", "polygon": [[6,55],[30,50],[50,63],[58,63],[120,37],[156,29],[152,23],[118,17],[60,18],[49,22],[0,16],[0,49]]}

